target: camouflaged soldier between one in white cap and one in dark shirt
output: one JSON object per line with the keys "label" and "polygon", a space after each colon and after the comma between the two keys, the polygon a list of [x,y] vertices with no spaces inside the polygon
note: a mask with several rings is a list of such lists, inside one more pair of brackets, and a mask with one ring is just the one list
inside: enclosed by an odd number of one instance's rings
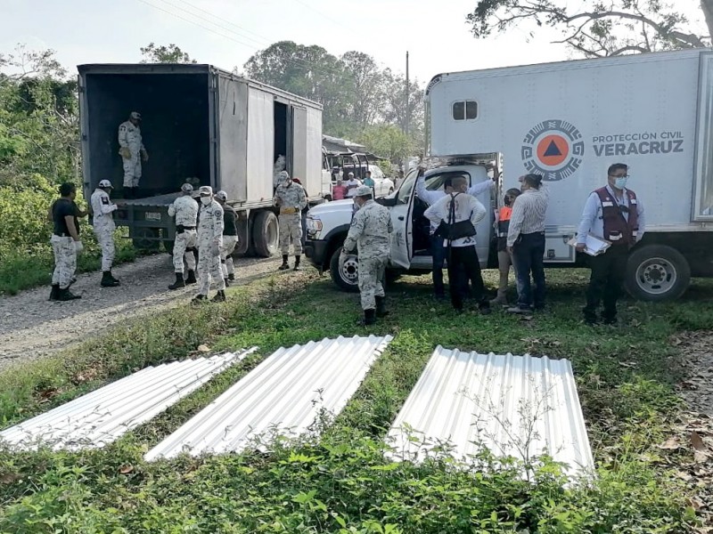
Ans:
{"label": "camouflaged soldier between one in white cap and one in dark shirt", "polygon": [[213,302],[225,302],[225,280],[220,269],[220,247],[223,245],[223,208],[213,198],[213,189],[202,185],[201,212],[198,215],[198,295],[194,302],[208,298],[210,279],[217,286]]}

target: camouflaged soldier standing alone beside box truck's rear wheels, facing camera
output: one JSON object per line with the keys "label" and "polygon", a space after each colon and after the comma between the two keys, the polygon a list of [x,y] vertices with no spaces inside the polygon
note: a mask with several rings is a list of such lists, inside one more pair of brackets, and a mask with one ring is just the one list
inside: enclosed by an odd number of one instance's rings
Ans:
{"label": "camouflaged soldier standing alone beside box truck's rear wheels, facing camera", "polygon": [[292,182],[290,174],[282,172],[282,183],[275,190],[275,206],[280,208],[280,250],[283,253],[283,264],[280,271],[290,269],[287,256],[290,250],[290,240],[295,252],[294,271],[299,271],[299,258],[302,255],[302,210],[307,207],[307,196],[299,183]]}

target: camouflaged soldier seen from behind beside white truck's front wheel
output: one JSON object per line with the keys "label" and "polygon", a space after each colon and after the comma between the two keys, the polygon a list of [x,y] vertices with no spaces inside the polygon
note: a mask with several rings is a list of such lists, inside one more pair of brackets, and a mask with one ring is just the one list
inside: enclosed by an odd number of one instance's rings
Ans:
{"label": "camouflaged soldier seen from behind beside white truck's front wheel", "polygon": [[389,210],[372,198],[372,188],[356,188],[354,202],[359,206],[344,241],[340,263],[356,247],[359,256],[359,293],[364,319],[362,325],[371,325],[386,311],[384,274],[389,261],[389,234],[393,231]]}

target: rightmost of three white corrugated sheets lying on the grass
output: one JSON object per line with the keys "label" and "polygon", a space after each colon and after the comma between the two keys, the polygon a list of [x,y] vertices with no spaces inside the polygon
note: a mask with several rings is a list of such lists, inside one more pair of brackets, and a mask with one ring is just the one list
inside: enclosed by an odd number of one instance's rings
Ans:
{"label": "rightmost of three white corrugated sheets lying on the grass", "polygon": [[460,459],[487,447],[520,459],[547,451],[570,475],[594,467],[569,360],[438,346],[387,439],[397,459],[449,441]]}

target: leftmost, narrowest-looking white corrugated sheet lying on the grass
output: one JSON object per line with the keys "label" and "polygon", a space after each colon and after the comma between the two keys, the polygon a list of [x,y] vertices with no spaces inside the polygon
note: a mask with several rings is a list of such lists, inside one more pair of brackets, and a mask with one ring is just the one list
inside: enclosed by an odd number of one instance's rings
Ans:
{"label": "leftmost, narrowest-looking white corrugated sheet lying on the grass", "polygon": [[157,416],[257,347],[143,368],[0,433],[17,449],[99,448]]}

